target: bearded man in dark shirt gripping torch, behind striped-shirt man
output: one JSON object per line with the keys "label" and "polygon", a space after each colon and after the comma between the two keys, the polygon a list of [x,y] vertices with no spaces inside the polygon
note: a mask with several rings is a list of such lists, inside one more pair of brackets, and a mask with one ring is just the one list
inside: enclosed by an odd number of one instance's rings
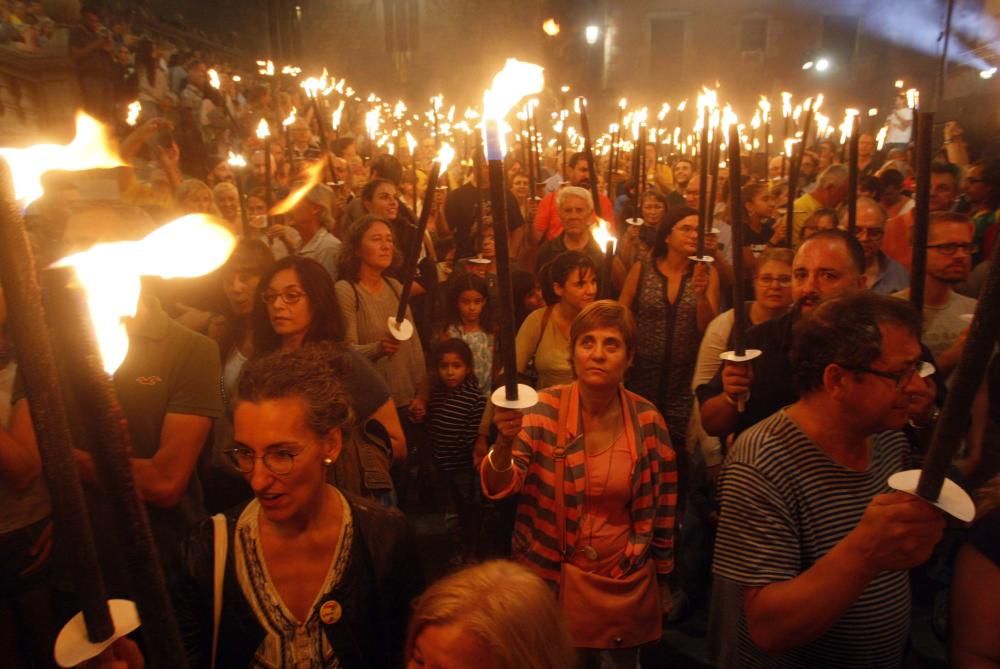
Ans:
{"label": "bearded man in dark shirt gripping torch, behind striped-shirt man", "polygon": [[[861,245],[843,230],[821,230],[803,242],[792,262],[794,307],[747,330],[747,348],[763,354],[752,363],[725,363],[698,387],[701,423],[708,434],[742,432],[798,399],[788,360],[792,326],[821,302],[862,290],[864,269]],[[737,408],[741,398],[742,413]]]}

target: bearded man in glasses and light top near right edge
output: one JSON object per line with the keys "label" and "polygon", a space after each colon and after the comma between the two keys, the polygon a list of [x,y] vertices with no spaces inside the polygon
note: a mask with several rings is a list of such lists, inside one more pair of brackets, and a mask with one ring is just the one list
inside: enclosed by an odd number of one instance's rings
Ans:
{"label": "bearded man in glasses and light top near right edge", "polygon": [[[923,342],[934,354],[938,370],[948,376],[958,365],[965,346],[966,314],[976,311],[976,300],[953,288],[969,276],[976,245],[972,222],[965,214],[931,214],[927,230],[927,271],[924,273]],[[909,299],[909,289],[895,293]]]}

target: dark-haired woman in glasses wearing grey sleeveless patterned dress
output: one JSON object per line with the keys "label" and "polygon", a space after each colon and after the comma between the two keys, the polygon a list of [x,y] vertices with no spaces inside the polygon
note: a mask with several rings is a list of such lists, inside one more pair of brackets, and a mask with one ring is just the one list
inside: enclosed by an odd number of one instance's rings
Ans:
{"label": "dark-haired woman in glasses wearing grey sleeveless patterned dress", "polygon": [[697,242],[698,212],[688,207],[668,211],[652,253],[632,266],[619,297],[639,328],[636,361],[625,387],[656,405],[674,444],[685,441],[698,343],[719,312],[718,273],[711,263],[690,259]]}

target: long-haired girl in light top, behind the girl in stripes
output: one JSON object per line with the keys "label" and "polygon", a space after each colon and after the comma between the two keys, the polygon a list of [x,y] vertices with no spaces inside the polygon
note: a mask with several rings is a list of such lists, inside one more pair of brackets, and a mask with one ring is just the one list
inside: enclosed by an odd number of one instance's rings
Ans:
{"label": "long-haired girl in light top, behind the girl in stripes", "polygon": [[496,335],[486,281],[475,274],[458,274],[448,287],[441,339],[461,339],[472,350],[472,368],[484,397],[493,386]]}

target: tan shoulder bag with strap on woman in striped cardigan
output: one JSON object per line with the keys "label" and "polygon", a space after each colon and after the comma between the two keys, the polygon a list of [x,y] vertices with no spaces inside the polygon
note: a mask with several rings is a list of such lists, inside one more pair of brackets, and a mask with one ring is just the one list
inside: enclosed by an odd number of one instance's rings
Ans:
{"label": "tan shoulder bag with strap on woman in striped cardigan", "polygon": [[[560,428],[569,410],[570,388],[559,403]],[[630,648],[659,640],[662,609],[656,584],[656,566],[646,559],[635,571],[612,578],[585,571],[569,558],[575,547],[566,545],[566,430],[560,429],[553,450],[556,488],[556,532],[562,564],[559,602],[573,645],[578,648]],[[586,476],[586,473],[584,473]]]}

